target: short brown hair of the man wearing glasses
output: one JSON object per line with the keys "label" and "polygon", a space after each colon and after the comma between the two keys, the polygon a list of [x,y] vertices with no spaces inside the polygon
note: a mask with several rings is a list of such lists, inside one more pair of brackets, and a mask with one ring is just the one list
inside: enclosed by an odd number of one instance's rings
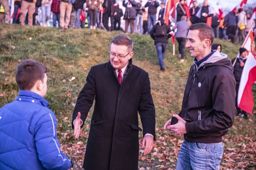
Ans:
{"label": "short brown hair of the man wearing glasses", "polygon": [[132,52],[133,49],[133,41],[131,39],[131,37],[124,35],[124,34],[118,34],[117,36],[115,36],[112,40],[111,40],[111,44],[115,44],[115,45],[122,45],[122,46],[127,46],[128,47],[128,51]]}

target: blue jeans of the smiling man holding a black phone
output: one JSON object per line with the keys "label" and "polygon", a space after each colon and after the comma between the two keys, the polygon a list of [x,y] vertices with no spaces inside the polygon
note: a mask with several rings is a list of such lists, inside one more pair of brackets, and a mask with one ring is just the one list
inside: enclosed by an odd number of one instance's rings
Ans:
{"label": "blue jeans of the smiling man holding a black phone", "polygon": [[198,143],[184,140],[177,160],[176,170],[219,169],[223,143]]}

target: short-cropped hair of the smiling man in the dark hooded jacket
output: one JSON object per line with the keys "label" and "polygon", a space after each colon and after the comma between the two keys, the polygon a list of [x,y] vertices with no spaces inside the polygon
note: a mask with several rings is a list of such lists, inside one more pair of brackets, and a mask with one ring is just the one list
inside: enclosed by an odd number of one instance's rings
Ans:
{"label": "short-cropped hair of the smiling man in the dark hooded jacket", "polygon": [[211,46],[212,46],[213,39],[214,39],[214,32],[213,32],[212,27],[210,27],[208,24],[206,24],[206,23],[192,24],[189,27],[189,30],[198,30],[200,40],[203,41],[204,39],[210,39]]}

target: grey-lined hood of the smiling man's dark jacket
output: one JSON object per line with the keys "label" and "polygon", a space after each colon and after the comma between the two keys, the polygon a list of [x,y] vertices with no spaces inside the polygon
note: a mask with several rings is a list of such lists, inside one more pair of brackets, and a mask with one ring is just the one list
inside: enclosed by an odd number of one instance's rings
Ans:
{"label": "grey-lined hood of the smiling man's dark jacket", "polygon": [[224,66],[229,68],[233,72],[233,66],[230,60],[228,59],[228,55],[220,53],[218,50],[212,51],[214,51],[214,53],[206,61],[202,62],[198,68],[210,66]]}

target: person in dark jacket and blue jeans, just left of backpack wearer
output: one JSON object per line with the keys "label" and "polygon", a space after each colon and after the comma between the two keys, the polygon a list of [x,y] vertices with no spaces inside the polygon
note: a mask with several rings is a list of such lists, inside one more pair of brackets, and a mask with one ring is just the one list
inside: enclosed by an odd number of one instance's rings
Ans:
{"label": "person in dark jacket and blue jeans, just left of backpack wearer", "polygon": [[149,34],[152,27],[156,24],[156,12],[159,3],[156,0],[148,0],[145,7],[148,7],[147,15],[147,32]]}

